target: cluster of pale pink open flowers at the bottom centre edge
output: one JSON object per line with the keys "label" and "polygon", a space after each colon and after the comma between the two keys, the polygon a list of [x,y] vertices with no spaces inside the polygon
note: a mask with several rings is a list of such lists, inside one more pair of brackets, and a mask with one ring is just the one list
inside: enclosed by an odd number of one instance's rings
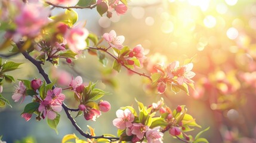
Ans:
{"label": "cluster of pale pink open flowers at the bottom centre edge", "polygon": [[143,125],[142,123],[134,122],[134,114],[131,110],[125,108],[125,110],[119,109],[116,111],[118,118],[113,120],[113,125],[116,128],[124,130],[127,136],[132,136],[132,142],[138,142],[147,139],[147,142],[162,142],[164,133],[159,132],[160,127],[150,129],[149,126]]}

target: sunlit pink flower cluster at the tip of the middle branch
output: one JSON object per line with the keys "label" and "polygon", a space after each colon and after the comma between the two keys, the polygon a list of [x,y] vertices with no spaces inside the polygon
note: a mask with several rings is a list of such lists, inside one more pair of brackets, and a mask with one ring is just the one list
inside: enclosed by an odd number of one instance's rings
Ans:
{"label": "sunlit pink flower cluster at the tip of the middle branch", "polygon": [[193,63],[186,64],[184,66],[179,66],[178,61],[174,61],[168,64],[167,67],[156,67],[158,73],[162,76],[158,80],[158,93],[164,94],[166,91],[166,84],[177,82],[178,85],[183,85],[183,83],[194,83],[192,78],[196,75],[193,71]]}

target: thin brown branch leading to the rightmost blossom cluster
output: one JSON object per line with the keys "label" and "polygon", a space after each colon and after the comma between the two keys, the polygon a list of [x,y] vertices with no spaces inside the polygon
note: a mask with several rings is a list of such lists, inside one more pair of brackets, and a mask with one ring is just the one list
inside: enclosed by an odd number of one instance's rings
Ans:
{"label": "thin brown branch leading to the rightmost blossom cluster", "polygon": [[[88,46],[88,48],[90,48],[90,49],[96,49],[96,50],[99,50],[99,51],[106,52],[106,53],[109,54],[111,57],[113,57],[116,61],[118,61],[119,63],[121,63],[120,60],[119,60],[117,57],[115,57],[115,55],[113,55],[113,54],[111,54],[109,51],[107,51],[107,49],[109,49],[109,48],[105,49],[105,48],[98,48],[98,47],[91,47],[91,46]],[[125,66],[124,63],[121,63],[121,65],[122,65],[123,67],[125,67],[127,70],[132,71],[132,73],[138,74],[138,75],[140,75],[140,76],[147,77],[150,81],[152,81],[151,77],[150,77],[149,75],[147,75],[146,73],[140,73],[140,72],[138,72],[138,71],[132,70],[132,69],[130,69],[129,67]]]}

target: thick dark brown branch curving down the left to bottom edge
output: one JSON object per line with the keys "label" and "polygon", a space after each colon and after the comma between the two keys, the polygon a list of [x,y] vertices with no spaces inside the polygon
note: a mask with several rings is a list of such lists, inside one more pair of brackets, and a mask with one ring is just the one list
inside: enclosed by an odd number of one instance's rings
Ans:
{"label": "thick dark brown branch curving down the left to bottom edge", "polygon": [[[20,49],[22,47],[21,43],[16,43],[17,47]],[[22,54],[24,55],[24,57],[29,60],[32,64],[34,64],[39,73],[44,77],[45,81],[50,84],[51,83],[51,80],[48,76],[47,73],[45,73],[44,69],[42,68],[41,64],[42,62],[41,61],[37,61],[35,60],[33,57],[31,57],[26,51],[23,51]],[[55,86],[53,86],[53,88],[55,88]],[[82,135],[82,136],[85,136],[85,138],[94,138],[94,139],[98,139],[98,138],[104,138],[104,139],[109,139],[110,142],[113,142],[113,141],[118,141],[119,138],[116,138],[116,137],[107,137],[107,136],[104,136],[104,135],[101,135],[101,136],[92,136],[90,135],[89,133],[85,133],[77,124],[76,124],[76,121],[75,119],[73,119],[73,117],[71,116],[71,114],[69,113],[69,110],[70,111],[79,111],[78,109],[72,109],[72,108],[69,108],[67,107],[66,104],[62,104],[62,107],[65,111],[65,113],[67,114],[67,118],[70,120],[70,122],[72,123],[72,125],[75,127],[76,130],[78,130],[78,132]]]}

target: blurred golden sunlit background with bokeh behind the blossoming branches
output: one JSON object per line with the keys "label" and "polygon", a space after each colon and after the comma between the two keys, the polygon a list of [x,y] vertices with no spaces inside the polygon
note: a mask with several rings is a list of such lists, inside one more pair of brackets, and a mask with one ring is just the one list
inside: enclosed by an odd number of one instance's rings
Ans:
{"label": "blurred golden sunlit background with bokeh behind the blossoming branches", "polygon": [[[103,35],[113,29],[117,35],[125,36],[124,45],[132,48],[141,44],[147,49],[148,64],[138,71],[149,71],[150,63],[168,64],[174,60],[183,63],[186,58],[195,57],[192,71],[196,73],[193,80],[197,91],[191,91],[190,96],[170,90],[158,95],[143,77],[130,74],[126,69],[118,74],[112,72],[113,59],[109,58],[109,64],[103,67],[97,57],[87,53],[72,66],[65,61],[57,68],[46,64],[44,68],[48,73],[66,70],[73,76],[82,76],[84,82],[98,81],[97,88],[109,92],[104,100],[112,104],[112,109],[103,113],[97,122],[78,117],[76,120],[82,129],[87,130],[90,125],[96,135],[116,135],[112,120],[119,107],[135,106],[135,98],[150,105],[163,97],[172,109],[186,105],[202,129],[210,126],[202,135],[209,142],[256,142],[256,1],[131,0],[127,14],[121,17],[113,14],[110,19],[100,17],[96,10],[76,11],[79,20],[87,20],[90,32]],[[21,55],[10,60],[24,63],[14,71],[16,79],[42,78]],[[58,135],[47,126],[46,120],[21,119],[20,113],[31,99],[26,98],[23,104],[14,103],[11,100],[14,89],[14,84],[5,84],[2,93],[13,105],[13,108],[0,108],[0,135],[4,141],[32,136],[39,143],[60,142],[68,133],[79,136],[64,111],[61,111]],[[64,94],[70,99],[73,97],[70,92]],[[69,99],[66,102],[69,104]],[[191,134],[196,135],[202,129],[195,129]],[[165,133],[164,142],[179,142],[168,136]]]}

